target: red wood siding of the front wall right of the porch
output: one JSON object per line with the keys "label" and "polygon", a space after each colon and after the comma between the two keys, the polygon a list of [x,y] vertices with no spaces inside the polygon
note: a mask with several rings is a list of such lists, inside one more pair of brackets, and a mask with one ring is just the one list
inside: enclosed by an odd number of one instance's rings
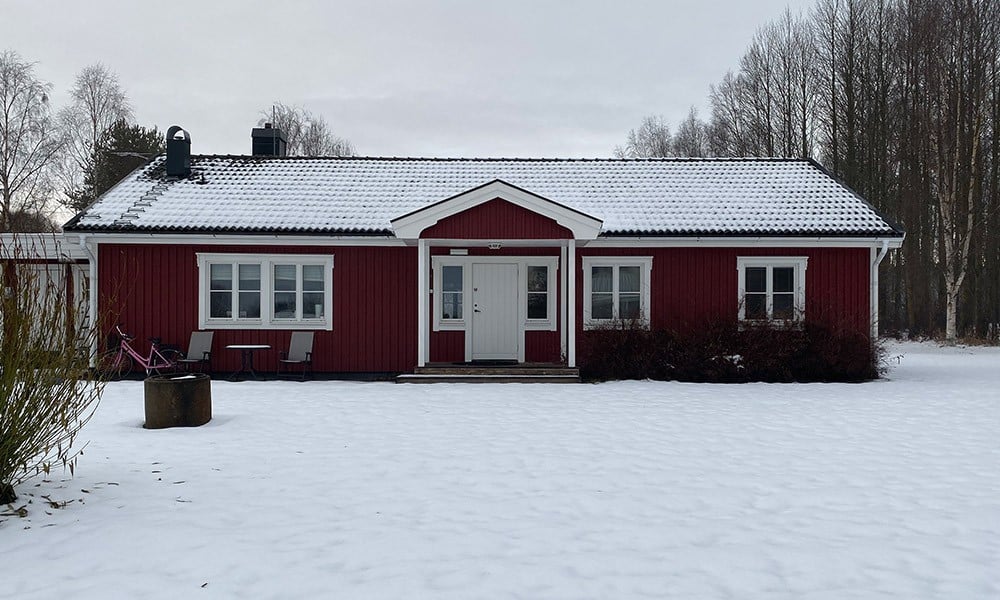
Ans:
{"label": "red wood siding of the front wall right of the porch", "polygon": [[736,259],[806,256],[806,319],[869,331],[868,248],[582,248],[577,256],[577,331],[583,330],[583,257],[652,256],[650,318],[654,328],[688,331],[735,318]]}

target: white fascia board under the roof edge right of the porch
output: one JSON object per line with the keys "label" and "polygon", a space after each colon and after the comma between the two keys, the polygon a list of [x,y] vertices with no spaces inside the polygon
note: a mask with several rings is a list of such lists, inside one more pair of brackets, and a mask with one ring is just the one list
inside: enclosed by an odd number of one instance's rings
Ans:
{"label": "white fascia board under the roof edge right of the porch", "polygon": [[902,237],[836,237],[836,236],[718,236],[718,237],[603,237],[596,240],[581,242],[580,246],[587,248],[682,248],[690,246],[704,247],[747,247],[761,248],[870,248],[881,247],[887,242],[891,249],[903,245]]}

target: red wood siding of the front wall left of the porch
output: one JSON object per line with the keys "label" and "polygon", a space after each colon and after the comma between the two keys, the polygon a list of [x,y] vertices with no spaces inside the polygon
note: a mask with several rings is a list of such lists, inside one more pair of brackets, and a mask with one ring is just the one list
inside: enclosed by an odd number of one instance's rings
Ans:
{"label": "red wood siding of the front wall left of the porch", "polygon": [[[146,338],[187,347],[198,329],[196,254],[325,254],[334,256],[333,330],[316,331],[316,371],[410,371],[416,364],[417,256],[403,247],[277,247],[101,244],[99,310],[103,331],[122,323],[145,352]],[[227,344],[270,344],[255,362],[274,370],[291,330],[216,329],[212,367],[239,366]]]}

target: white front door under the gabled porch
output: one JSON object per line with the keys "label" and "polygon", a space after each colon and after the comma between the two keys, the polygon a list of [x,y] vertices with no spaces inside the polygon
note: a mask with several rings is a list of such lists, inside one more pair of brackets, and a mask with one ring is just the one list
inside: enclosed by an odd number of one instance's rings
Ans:
{"label": "white front door under the gabled porch", "polygon": [[517,360],[517,265],[472,265],[472,360]]}

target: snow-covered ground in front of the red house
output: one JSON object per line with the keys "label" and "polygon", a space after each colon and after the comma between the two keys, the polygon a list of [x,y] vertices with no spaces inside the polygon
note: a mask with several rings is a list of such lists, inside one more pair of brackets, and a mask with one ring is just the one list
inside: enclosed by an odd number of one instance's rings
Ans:
{"label": "snow-covered ground in front of the red house", "polygon": [[998,598],[1000,349],[890,354],[860,385],[214,382],[158,431],[113,384],[77,476],[0,517],[0,593]]}

